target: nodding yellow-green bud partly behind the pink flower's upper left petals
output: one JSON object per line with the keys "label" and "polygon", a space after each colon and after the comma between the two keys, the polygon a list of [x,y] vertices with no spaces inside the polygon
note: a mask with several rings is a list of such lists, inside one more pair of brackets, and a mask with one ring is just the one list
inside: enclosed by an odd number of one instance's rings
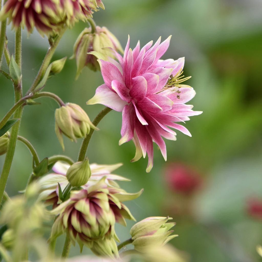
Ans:
{"label": "nodding yellow-green bud partly behind the pink flower's upper left petals", "polygon": [[123,52],[123,48],[117,38],[106,27],[103,26],[101,28],[100,26],[96,26],[94,33],[92,33],[91,28],[85,28],[74,44],[74,54],[71,57],[75,58],[77,62],[76,78],[79,77],[85,66],[94,71],[100,70],[97,58],[92,54],[88,54],[92,51],[100,52],[114,58],[114,51]]}

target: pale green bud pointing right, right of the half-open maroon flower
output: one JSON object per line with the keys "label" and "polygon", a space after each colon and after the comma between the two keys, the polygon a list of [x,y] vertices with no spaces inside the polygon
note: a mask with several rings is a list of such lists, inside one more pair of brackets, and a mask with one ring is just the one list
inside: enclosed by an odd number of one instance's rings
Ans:
{"label": "pale green bud pointing right, right of the half-open maroon flower", "polygon": [[148,217],[136,223],[131,229],[132,244],[138,252],[148,252],[158,246],[162,246],[178,235],[170,236],[170,231],[176,223],[169,222],[171,217]]}

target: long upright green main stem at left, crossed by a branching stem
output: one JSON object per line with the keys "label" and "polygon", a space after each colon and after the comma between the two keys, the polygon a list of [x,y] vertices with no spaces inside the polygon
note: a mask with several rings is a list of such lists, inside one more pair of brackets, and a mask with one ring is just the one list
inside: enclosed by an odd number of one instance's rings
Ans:
{"label": "long upright green main stem at left, crossed by a branching stem", "polygon": [[[19,28],[15,33],[15,58],[16,58],[17,64],[21,67],[21,28]],[[15,103],[17,103],[22,98],[21,85],[14,86],[14,91],[15,91]],[[19,107],[14,113],[14,118],[20,119],[22,116],[22,110],[23,108]],[[6,152],[6,158],[4,160],[4,166],[3,166],[2,173],[0,176],[0,203],[2,202],[4,189],[6,187],[7,178],[8,178],[10,168],[12,165],[12,161],[13,161],[13,157],[14,157],[14,151],[15,151],[15,145],[17,141],[19,125],[20,125],[20,121],[15,123],[11,129],[10,139],[9,139],[8,148]]]}

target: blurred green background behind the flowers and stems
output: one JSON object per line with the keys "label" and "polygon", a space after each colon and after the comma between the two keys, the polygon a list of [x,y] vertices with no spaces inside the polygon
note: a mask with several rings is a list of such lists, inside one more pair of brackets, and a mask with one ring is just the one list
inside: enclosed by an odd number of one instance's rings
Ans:
{"label": "blurred green background behind the flowers and stems", "polygon": [[[262,261],[255,247],[262,244],[262,223],[247,212],[250,197],[262,198],[262,2],[260,0],[104,0],[105,10],[94,14],[97,25],[106,26],[125,46],[128,34],[131,47],[140,40],[145,45],[172,35],[164,59],[185,57],[184,73],[192,75],[187,84],[196,90],[189,103],[203,111],[185,124],[192,138],[178,133],[177,141],[166,141],[165,162],[155,147],[154,167],[145,172],[147,159],[130,163],[135,153],[132,142],[118,146],[121,113],[110,112],[99,124],[88,148],[90,162],[124,165],[117,174],[132,179],[121,183],[128,192],[144,188],[139,199],[127,203],[139,221],[148,216],[172,216],[179,237],[171,243],[189,254],[190,261]],[[53,60],[72,55],[74,41],[87,26],[80,22],[68,30]],[[34,80],[48,48],[48,41],[34,31],[23,32],[23,89]],[[8,27],[8,45],[13,52],[14,32]],[[7,70],[6,65],[3,65]],[[97,86],[103,83],[100,72],[84,68],[77,81],[75,60],[67,60],[63,71],[48,80],[45,91],[65,102],[82,106],[93,119],[103,108],[87,106]],[[13,105],[11,83],[0,76],[0,117]],[[40,100],[39,100],[40,101]],[[54,133],[56,102],[42,98],[39,106],[26,106],[20,135],[29,139],[43,159],[63,154]],[[65,152],[77,159],[81,140],[65,141]],[[4,156],[0,157],[2,168]],[[184,196],[168,187],[166,167],[183,163],[203,180],[202,187]],[[17,143],[7,184],[10,196],[25,188],[31,172],[31,155]],[[181,208],[183,207],[183,208]],[[185,211],[186,210],[186,211]],[[117,226],[121,241],[129,229]],[[63,237],[57,250],[61,250]],[[72,248],[70,256],[78,254]],[[84,248],[83,253],[89,253]]]}

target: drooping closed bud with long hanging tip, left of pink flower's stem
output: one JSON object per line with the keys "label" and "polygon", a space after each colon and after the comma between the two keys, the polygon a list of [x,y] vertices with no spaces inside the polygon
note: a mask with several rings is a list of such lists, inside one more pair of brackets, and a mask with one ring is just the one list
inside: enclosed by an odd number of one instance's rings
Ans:
{"label": "drooping closed bud with long hanging tip, left of pink flower's stem", "polygon": [[72,141],[86,137],[90,128],[98,130],[90,121],[86,112],[77,104],[67,103],[55,111],[55,132],[64,150],[62,134]]}

